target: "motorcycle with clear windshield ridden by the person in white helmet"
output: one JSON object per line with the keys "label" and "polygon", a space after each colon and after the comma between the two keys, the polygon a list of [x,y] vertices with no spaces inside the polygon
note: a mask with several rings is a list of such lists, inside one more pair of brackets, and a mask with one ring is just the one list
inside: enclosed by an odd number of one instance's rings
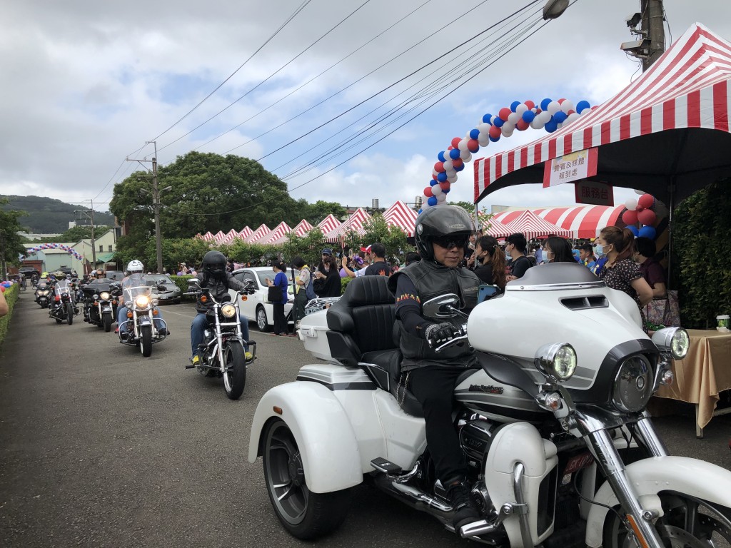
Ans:
{"label": "motorcycle with clear windshield ridden by the person in white helmet", "polygon": [[124,288],[127,319],[119,324],[119,342],[137,346],[144,357],[152,354],[152,345],[167,338],[167,324],[159,318],[156,297],[151,286]]}

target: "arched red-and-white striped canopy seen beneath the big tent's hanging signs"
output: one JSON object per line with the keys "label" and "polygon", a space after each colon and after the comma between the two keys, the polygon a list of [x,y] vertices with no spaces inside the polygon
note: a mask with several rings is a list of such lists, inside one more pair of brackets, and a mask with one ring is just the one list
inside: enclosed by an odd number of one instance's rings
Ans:
{"label": "arched red-and-white striped canopy seen beneath the big tent's hanging signs", "polygon": [[[493,216],[493,220],[510,224],[523,211],[525,210],[501,211]],[[551,224],[570,230],[571,237],[575,238],[594,238],[604,227],[624,226],[620,220],[624,205],[572,205],[565,208],[538,208],[529,211]]]}

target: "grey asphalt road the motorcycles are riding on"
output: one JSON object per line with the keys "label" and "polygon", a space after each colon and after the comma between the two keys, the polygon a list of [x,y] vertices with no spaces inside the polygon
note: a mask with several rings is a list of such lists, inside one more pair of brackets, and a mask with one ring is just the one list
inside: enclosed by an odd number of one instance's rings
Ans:
{"label": "grey asphalt road the motorcycles are riding on", "polygon": [[[257,333],[246,390],[185,370],[190,304],[163,309],[167,340],[143,358],[116,335],[48,319],[30,293],[15,308],[0,356],[0,546],[308,546],[284,532],[259,460],[251,416],[270,387],[313,361],[293,337]],[[729,468],[731,416],[694,436],[692,413],[656,424],[673,454]],[[319,547],[453,547],[436,520],[358,487],[344,525]]]}

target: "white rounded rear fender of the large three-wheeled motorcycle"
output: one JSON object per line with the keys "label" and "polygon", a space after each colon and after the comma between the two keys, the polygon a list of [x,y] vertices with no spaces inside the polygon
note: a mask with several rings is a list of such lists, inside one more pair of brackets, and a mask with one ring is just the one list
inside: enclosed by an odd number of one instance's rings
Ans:
{"label": "white rounded rear fender of the large three-wheeled motorcycle", "polygon": [[[273,411],[275,406],[281,408],[281,414]],[[272,418],[283,420],[292,430],[311,492],[339,491],[363,482],[355,433],[330,389],[309,381],[270,389],[257,405],[251,422],[249,463],[262,454],[263,430]]]}

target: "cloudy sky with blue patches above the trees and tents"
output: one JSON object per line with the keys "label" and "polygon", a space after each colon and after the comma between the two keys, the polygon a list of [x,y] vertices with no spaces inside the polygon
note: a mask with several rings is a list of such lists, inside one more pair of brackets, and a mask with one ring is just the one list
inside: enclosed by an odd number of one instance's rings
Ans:
{"label": "cloudy sky with blue patches above the trees and tents", "polygon": [[[192,150],[257,159],[310,202],[413,202],[436,154],[483,114],[544,97],[599,104],[640,74],[619,49],[639,0],[577,0],[545,26],[543,4],[6,2],[0,194],[106,210],[140,167],[126,157],[150,159],[156,141],[161,164]],[[731,39],[728,0],[664,8],[667,44],[695,21]],[[515,132],[475,157],[541,134]],[[471,174],[450,199],[471,200]],[[618,189],[616,202],[633,194]],[[526,185],[481,205],[573,203],[570,185]]]}

